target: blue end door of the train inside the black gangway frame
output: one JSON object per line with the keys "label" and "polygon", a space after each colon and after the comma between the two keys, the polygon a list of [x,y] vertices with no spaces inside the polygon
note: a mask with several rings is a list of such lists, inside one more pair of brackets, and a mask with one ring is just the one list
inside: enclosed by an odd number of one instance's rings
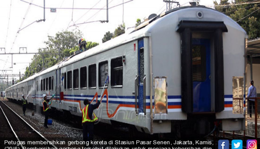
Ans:
{"label": "blue end door of the train inside the black gangway frame", "polygon": [[210,39],[192,39],[192,80],[193,112],[210,112]]}

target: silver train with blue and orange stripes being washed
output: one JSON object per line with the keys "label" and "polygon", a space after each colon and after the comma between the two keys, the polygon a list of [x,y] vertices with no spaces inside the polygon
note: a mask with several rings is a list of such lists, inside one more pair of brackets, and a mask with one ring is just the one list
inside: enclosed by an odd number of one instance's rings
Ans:
{"label": "silver train with blue and orange stripes being washed", "polygon": [[100,122],[149,134],[243,130],[246,38],[223,13],[180,7],[7,88],[6,98],[42,106],[42,94],[57,91],[51,109],[76,116],[84,99],[101,99]]}

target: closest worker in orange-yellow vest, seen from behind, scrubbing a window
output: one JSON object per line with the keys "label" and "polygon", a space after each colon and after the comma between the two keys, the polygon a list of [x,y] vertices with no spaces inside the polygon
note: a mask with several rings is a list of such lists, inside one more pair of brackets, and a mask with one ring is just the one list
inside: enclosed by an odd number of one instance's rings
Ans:
{"label": "closest worker in orange-yellow vest, seen from behind, scrubbing a window", "polygon": [[[90,104],[88,99],[84,100],[85,107],[82,109],[82,126],[83,126],[83,141],[92,141],[94,138],[94,122],[97,121],[97,117],[93,112],[100,105],[98,100],[95,104]],[[93,114],[93,116],[92,116]],[[93,147],[89,144],[89,147]]]}

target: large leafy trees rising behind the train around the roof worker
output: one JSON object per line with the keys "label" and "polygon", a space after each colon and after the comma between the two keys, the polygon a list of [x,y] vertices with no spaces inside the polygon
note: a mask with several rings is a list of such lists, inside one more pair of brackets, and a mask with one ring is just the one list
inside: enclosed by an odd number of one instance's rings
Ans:
{"label": "large leafy trees rising behind the train around the roof worker", "polygon": [[[49,68],[63,60],[63,57],[71,56],[76,50],[78,39],[82,37],[80,31],[70,32],[62,31],[55,34],[55,36],[48,36],[48,41],[45,41],[46,48],[39,48],[37,55],[31,59],[30,65],[24,72],[24,77],[21,80],[32,76],[34,73],[40,72],[42,69]],[[99,43],[88,41],[86,49],[93,48]],[[60,56],[59,56],[60,55]],[[54,59],[55,57],[56,59]],[[21,81],[21,80],[18,80]]]}

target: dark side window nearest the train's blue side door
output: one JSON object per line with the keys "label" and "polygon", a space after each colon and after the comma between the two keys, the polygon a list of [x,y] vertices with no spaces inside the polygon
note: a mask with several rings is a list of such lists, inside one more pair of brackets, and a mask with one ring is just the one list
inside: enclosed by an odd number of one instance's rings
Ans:
{"label": "dark side window nearest the train's blue side door", "polygon": [[122,87],[123,85],[123,63],[122,56],[111,59],[111,86]]}

